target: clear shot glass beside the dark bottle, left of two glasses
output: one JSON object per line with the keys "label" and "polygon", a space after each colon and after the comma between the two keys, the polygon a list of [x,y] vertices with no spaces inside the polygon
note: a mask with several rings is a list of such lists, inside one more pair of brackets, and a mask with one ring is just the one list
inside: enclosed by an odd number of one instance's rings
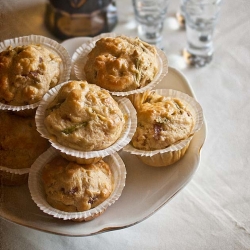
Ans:
{"label": "clear shot glass beside the dark bottle, left of two glasses", "polygon": [[141,40],[161,47],[162,31],[169,0],[133,0],[138,36]]}

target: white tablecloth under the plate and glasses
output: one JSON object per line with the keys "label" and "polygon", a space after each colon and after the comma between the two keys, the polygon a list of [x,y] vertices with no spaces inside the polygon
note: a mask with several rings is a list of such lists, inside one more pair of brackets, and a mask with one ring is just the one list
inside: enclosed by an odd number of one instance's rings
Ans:
{"label": "white tablecloth under the plate and glasses", "polygon": [[[43,23],[45,3],[1,1],[0,40],[29,34],[56,39]],[[117,0],[117,6],[114,31],[136,35],[131,1]],[[192,180],[148,219],[98,235],[58,236],[0,219],[0,249],[250,249],[250,2],[224,1],[215,55],[203,68],[188,67],[181,56],[186,38],[176,23],[177,8],[178,1],[170,1],[165,52],[170,66],[189,80],[207,124]]]}

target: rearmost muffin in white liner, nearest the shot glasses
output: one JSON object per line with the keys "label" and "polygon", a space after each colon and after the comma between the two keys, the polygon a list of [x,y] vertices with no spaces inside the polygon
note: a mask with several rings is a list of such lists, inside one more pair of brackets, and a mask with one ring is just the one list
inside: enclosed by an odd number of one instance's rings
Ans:
{"label": "rearmost muffin in white liner, nearest the shot glasses", "polygon": [[77,79],[115,96],[152,89],[168,72],[163,51],[139,38],[104,33],[82,44],[72,57]]}

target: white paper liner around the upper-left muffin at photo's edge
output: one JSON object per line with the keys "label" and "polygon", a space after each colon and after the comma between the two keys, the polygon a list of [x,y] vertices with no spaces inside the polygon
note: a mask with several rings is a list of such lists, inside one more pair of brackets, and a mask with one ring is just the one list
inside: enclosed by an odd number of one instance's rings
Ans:
{"label": "white paper liner around the upper-left muffin at photo's edge", "polygon": [[[30,35],[30,36],[16,37],[13,39],[4,40],[0,43],[0,52],[7,49],[9,46],[17,47],[17,46],[29,45],[29,44],[43,45],[45,48],[51,50],[53,53],[56,53],[58,56],[60,56],[60,58],[62,59],[62,65],[60,68],[60,78],[59,78],[58,84],[69,80],[70,72],[71,72],[70,55],[68,51],[61,44],[59,44],[55,40],[52,40],[48,37]],[[30,105],[23,105],[23,106],[15,106],[15,105],[8,105],[8,104],[0,103],[0,109],[12,110],[12,111],[35,109],[37,108],[39,103],[40,102],[33,103]]]}

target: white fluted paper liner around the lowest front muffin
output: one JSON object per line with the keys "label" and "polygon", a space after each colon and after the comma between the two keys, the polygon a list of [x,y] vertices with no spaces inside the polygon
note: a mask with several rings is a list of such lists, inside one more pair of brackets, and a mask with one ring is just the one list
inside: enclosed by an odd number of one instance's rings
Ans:
{"label": "white fluted paper liner around the lowest front muffin", "polygon": [[44,191],[41,174],[43,167],[56,155],[58,155],[58,152],[53,147],[49,148],[46,152],[44,152],[37,158],[30,169],[28,179],[30,194],[33,201],[44,213],[63,220],[89,220],[102,214],[121,196],[125,186],[127,172],[121,157],[117,153],[114,153],[103,159],[107,164],[109,164],[114,179],[114,190],[109,198],[107,198],[97,207],[84,212],[64,212],[53,208],[46,201],[46,194]]}

